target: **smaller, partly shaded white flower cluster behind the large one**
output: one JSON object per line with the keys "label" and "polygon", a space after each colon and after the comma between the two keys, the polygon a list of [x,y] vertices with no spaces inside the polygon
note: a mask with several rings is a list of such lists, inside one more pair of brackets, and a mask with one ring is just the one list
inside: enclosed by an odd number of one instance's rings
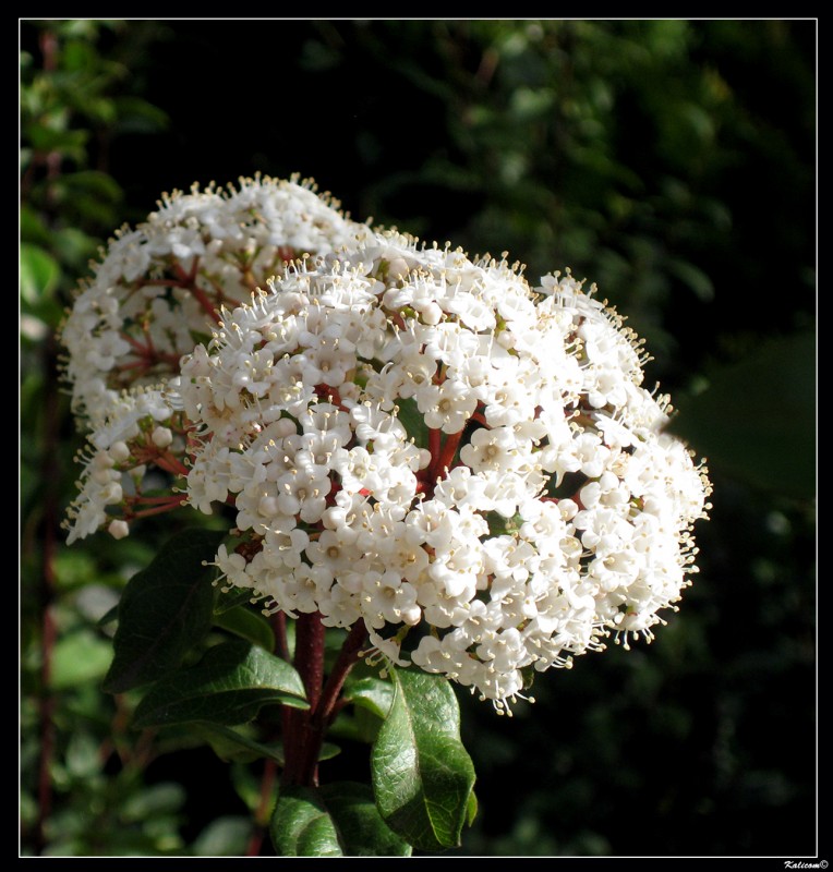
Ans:
{"label": "smaller, partly shaded white flower cluster behind the large one", "polygon": [[312,182],[259,177],[165,195],[145,222],[122,228],[61,332],[73,411],[89,437],[70,542],[108,523],[126,535],[126,520],[180,501],[170,492],[143,496],[148,469],[184,472],[189,423],[170,390],[180,359],[209,339],[221,306],[249,300],[287,263],[342,247],[362,228]]}

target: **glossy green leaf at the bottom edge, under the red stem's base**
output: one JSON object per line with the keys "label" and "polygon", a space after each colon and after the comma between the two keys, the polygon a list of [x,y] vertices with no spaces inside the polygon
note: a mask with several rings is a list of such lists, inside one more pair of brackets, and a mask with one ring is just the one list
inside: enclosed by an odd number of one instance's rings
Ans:
{"label": "glossy green leaf at the bottom edge, under the red stem's base", "polygon": [[281,789],[270,832],[280,857],[410,857],[382,820],[367,785]]}

